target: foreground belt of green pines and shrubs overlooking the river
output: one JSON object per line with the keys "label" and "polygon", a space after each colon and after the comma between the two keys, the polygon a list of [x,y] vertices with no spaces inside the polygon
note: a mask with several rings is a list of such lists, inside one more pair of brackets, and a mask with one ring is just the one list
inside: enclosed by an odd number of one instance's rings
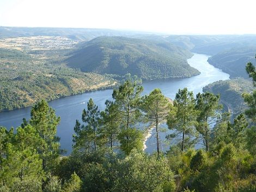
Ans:
{"label": "foreground belt of green pines and shrubs overlooking the river", "polygon": [[[252,63],[246,71],[256,86]],[[230,122],[220,95],[194,97],[184,88],[172,103],[157,88],[142,97],[140,82],[115,88],[103,111],[88,101],[74,122],[70,156],[56,136],[60,117],[45,100],[16,131],[1,127],[0,191],[256,191],[255,89]],[[172,130],[166,139],[176,141],[167,152],[159,148],[164,123]],[[157,150],[148,154],[143,138],[152,127]]]}

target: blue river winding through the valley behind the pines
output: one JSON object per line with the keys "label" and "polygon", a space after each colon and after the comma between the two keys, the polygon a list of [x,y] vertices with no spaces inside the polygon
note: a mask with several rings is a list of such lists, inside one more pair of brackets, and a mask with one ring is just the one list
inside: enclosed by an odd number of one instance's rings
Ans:
{"label": "blue river winding through the valley behind the pines", "polygon": [[[174,99],[179,88],[187,87],[188,90],[193,91],[194,94],[202,92],[202,88],[212,82],[218,80],[229,79],[229,74],[222,72],[220,69],[210,65],[208,55],[194,54],[191,59],[188,59],[188,64],[200,71],[200,75],[193,76],[186,79],[172,79],[172,80],[157,80],[144,82],[143,94],[148,94],[154,88],[160,88],[162,93],[171,99]],[[57,128],[57,135],[60,137],[60,144],[62,149],[66,149],[69,155],[72,149],[72,134],[74,133],[74,125],[76,119],[81,121],[82,110],[86,108],[87,102],[93,98],[100,110],[105,108],[105,100],[112,99],[112,89],[103,91],[88,92],[78,95],[72,95],[65,98],[56,99],[49,102],[49,105],[56,110],[57,116],[60,116],[61,121]],[[21,108],[19,110],[5,111],[0,113],[0,125],[10,129],[11,126],[17,127],[22,123],[22,118],[29,119],[31,107]],[[167,133],[163,133],[161,138],[164,139]],[[156,150],[154,137],[149,137],[147,142],[147,149],[145,151],[152,152]],[[164,150],[166,146],[162,145]]]}

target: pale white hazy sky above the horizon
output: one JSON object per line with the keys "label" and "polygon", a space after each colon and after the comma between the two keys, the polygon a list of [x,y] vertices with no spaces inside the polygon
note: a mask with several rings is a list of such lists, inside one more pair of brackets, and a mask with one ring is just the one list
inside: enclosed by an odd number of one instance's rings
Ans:
{"label": "pale white hazy sky above the horizon", "polygon": [[0,25],[256,34],[256,0],[0,0]]}

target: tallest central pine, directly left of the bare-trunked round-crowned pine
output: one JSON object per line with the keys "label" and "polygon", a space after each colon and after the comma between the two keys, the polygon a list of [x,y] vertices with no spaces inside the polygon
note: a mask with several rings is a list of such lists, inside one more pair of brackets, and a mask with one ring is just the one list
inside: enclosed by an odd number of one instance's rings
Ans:
{"label": "tallest central pine, directly left of the bare-trunked round-crowned pine", "polygon": [[121,131],[118,140],[121,150],[126,154],[129,154],[133,148],[138,150],[143,148],[142,132],[135,128],[142,116],[139,110],[142,91],[143,87],[137,81],[127,80],[118,89],[114,89],[112,94],[121,115]]}

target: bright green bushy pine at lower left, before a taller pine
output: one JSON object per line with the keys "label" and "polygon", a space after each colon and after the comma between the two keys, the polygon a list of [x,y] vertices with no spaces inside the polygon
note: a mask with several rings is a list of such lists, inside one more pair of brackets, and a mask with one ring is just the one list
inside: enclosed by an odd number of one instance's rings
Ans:
{"label": "bright green bushy pine at lower left, before a taller pine", "polygon": [[15,142],[11,146],[9,159],[13,170],[19,178],[16,185],[20,191],[26,190],[29,184],[29,190],[38,190],[38,183],[41,184],[44,172],[42,170],[42,159],[36,153],[36,146],[41,145],[44,141],[39,137],[35,128],[31,125],[18,127],[16,130]]}

